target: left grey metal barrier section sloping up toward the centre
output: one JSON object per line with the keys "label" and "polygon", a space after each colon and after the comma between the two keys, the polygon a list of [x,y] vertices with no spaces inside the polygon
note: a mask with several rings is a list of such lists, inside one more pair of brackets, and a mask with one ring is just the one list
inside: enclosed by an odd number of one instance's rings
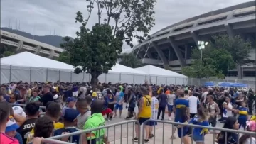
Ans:
{"label": "left grey metal barrier section sloping up toward the centre", "polygon": [[[129,131],[129,128],[131,127],[131,126],[129,126],[129,123],[132,123],[132,131]],[[101,129],[107,129],[106,130],[106,135],[107,135],[107,138],[108,138],[108,140],[109,141],[111,141],[112,143],[116,143],[116,140],[120,140],[119,142],[118,142],[118,144],[122,144],[122,138],[123,138],[123,135],[122,135],[122,132],[123,132],[123,125],[126,125],[126,133],[127,133],[127,135],[126,135],[126,137],[124,137],[124,138],[126,138],[126,143],[128,143],[128,138],[129,138],[129,132],[132,132],[132,138],[134,138],[134,125],[135,125],[135,123],[137,123],[137,124],[139,124],[139,121],[137,121],[137,120],[131,120],[131,121],[124,121],[124,122],[120,122],[120,123],[114,123],[114,124],[110,124],[110,125],[107,125],[107,126],[100,126],[100,127],[98,127],[98,128],[90,128],[90,129],[87,129],[87,130],[82,130],[82,131],[77,131],[77,132],[74,132],[74,133],[68,133],[68,134],[64,134],[64,135],[58,135],[58,136],[53,136],[53,137],[50,137],[50,138],[46,138],[46,139],[44,139],[43,140],[43,143],[54,143],[54,144],[71,144],[71,142],[72,142],[72,136],[73,135],[80,135],[80,143],[82,142],[82,134],[83,133],[91,133],[92,131],[100,131]],[[116,128],[117,128],[117,126],[120,126],[120,131],[117,131],[117,133],[120,133],[120,137],[119,137],[119,139],[116,139]],[[113,133],[114,133],[114,135],[113,135],[113,139],[114,140],[110,140],[109,138],[110,138],[110,128],[114,128],[114,130],[113,130]],[[112,131],[111,131],[112,132]],[[140,143],[140,129],[139,129],[139,140],[138,140],[138,143]],[[65,138],[65,137],[70,137],[70,143],[68,143],[68,142],[64,142],[64,141],[60,141],[60,140],[58,140],[58,139],[60,139],[60,138]],[[134,141],[132,141],[132,143],[135,143]]]}

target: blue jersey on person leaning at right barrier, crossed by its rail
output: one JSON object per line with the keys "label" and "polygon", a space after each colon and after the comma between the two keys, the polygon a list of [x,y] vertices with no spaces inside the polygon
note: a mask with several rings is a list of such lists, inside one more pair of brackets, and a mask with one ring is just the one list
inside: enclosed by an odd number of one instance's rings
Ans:
{"label": "blue jersey on person leaning at right barrier, crossed by its rail", "polygon": [[[198,121],[198,116],[192,118],[191,121],[189,121],[189,123],[198,126],[209,126],[208,121]],[[193,128],[193,135],[204,135],[206,133],[208,133],[207,128]]]}

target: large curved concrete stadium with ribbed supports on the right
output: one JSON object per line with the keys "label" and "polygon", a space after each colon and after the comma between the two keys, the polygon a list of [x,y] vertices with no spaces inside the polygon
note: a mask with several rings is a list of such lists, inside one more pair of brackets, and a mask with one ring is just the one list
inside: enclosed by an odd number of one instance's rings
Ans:
{"label": "large curved concrete stadium with ribbed supports on the right", "polygon": [[[198,41],[207,42],[218,34],[240,35],[250,40],[252,64],[242,66],[240,77],[255,77],[255,1],[210,11],[167,26],[135,46],[133,52],[145,64],[169,65],[174,72],[181,72],[181,67],[191,64],[191,50],[198,48]],[[238,70],[230,70],[229,76],[239,77]]]}

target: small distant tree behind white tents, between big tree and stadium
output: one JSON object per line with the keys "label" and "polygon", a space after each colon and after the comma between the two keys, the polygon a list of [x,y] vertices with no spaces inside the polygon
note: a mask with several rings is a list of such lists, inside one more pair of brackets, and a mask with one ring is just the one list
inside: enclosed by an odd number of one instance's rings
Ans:
{"label": "small distant tree behind white tents, between big tree and stadium", "polygon": [[127,67],[137,68],[142,67],[142,61],[138,60],[133,53],[124,53],[120,55],[122,59],[119,64],[125,65]]}

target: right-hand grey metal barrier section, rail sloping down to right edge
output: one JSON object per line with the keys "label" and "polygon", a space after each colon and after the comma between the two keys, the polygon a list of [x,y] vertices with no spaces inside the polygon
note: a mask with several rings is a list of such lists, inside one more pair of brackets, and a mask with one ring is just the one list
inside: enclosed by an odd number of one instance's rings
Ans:
{"label": "right-hand grey metal barrier section, rail sloping down to right edge", "polygon": [[[227,143],[227,132],[231,132],[231,133],[238,133],[238,143],[239,143],[239,134],[242,133],[242,134],[249,134],[250,135],[250,144],[254,144],[252,143],[252,137],[255,137],[256,138],[256,133],[255,132],[249,132],[249,131],[239,131],[239,130],[231,130],[231,129],[226,129],[226,128],[215,128],[215,127],[210,127],[210,126],[198,126],[198,125],[193,125],[193,124],[188,124],[188,123],[176,123],[176,122],[171,122],[171,121],[159,121],[159,120],[147,120],[145,121],[144,123],[149,123],[149,122],[157,122],[157,123],[163,123],[163,128],[162,128],[162,133],[160,134],[161,135],[161,139],[160,140],[157,140],[156,142],[156,126],[154,126],[154,138],[153,138],[153,143],[157,143],[157,144],[164,144],[166,143],[166,141],[164,140],[164,134],[166,133],[165,131],[165,124],[170,124],[171,125],[171,137],[174,137],[174,132],[173,131],[174,129],[176,129],[175,126],[186,126],[188,128],[192,128],[192,133],[191,135],[193,135],[193,128],[207,128],[208,130],[213,130],[213,131],[225,131],[225,143]],[[144,131],[144,128],[145,128],[145,125],[143,125],[143,129],[142,129],[142,144],[146,143],[144,142],[144,138],[145,138],[145,131]],[[181,133],[183,131],[183,127],[181,127]],[[159,138],[160,135],[157,135],[157,137]],[[206,135],[205,135],[206,136]],[[168,139],[170,140],[170,139]],[[191,143],[193,144],[193,139],[191,138]],[[205,139],[206,141],[206,139]],[[169,142],[168,142],[169,143]],[[171,138],[171,144],[173,143],[177,143],[177,142],[174,142],[174,138]],[[181,140],[181,144],[183,143],[183,141]],[[207,141],[207,143],[210,143],[210,141]],[[213,144],[215,143],[215,134],[213,134]]]}

